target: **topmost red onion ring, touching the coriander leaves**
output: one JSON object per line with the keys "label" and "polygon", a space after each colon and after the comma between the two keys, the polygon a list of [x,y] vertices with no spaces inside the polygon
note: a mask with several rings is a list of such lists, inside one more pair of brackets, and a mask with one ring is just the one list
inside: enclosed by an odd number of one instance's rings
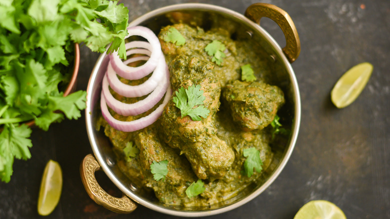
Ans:
{"label": "topmost red onion ring, touching the coriander leaves", "polygon": [[[150,58],[146,61],[146,63],[144,63],[141,66],[131,67],[123,64],[123,62],[120,60],[118,56],[117,51],[114,51],[110,55],[110,63],[112,65],[112,68],[120,76],[126,79],[136,80],[148,75],[153,71],[154,68],[156,68],[158,59],[160,59],[160,57],[162,56],[161,45],[159,43],[157,36],[149,28],[143,26],[133,26],[128,28],[127,30],[128,30],[127,37],[132,35],[142,36],[150,43],[151,48],[150,49],[147,48],[148,50],[151,51]],[[141,42],[141,41],[135,41],[135,42]],[[137,45],[134,47],[140,47],[140,46]]]}

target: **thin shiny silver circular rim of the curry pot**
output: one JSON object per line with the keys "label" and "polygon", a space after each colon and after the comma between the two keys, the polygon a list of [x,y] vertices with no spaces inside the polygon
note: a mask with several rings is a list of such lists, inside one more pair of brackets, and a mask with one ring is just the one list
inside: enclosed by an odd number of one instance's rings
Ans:
{"label": "thin shiny silver circular rim of the curry pot", "polygon": [[278,55],[281,57],[282,63],[284,63],[284,66],[286,70],[288,71],[289,74],[289,79],[292,84],[292,90],[293,90],[293,100],[294,100],[294,117],[293,117],[293,124],[292,124],[292,133],[291,133],[291,140],[289,141],[289,145],[286,149],[285,155],[282,157],[282,159],[279,162],[279,165],[273,170],[273,173],[269,176],[269,178],[256,190],[254,190],[252,193],[248,194],[246,197],[242,198],[241,200],[228,204],[226,206],[222,206],[217,209],[212,209],[212,210],[203,210],[203,211],[184,211],[184,210],[174,210],[174,209],[168,209],[162,206],[161,204],[156,204],[150,201],[146,201],[142,199],[141,197],[137,196],[134,194],[127,186],[125,186],[122,182],[119,181],[119,179],[114,175],[114,173],[110,170],[109,166],[106,163],[106,160],[100,153],[98,146],[96,145],[96,138],[94,136],[95,132],[95,127],[92,125],[93,124],[93,117],[92,117],[92,98],[93,98],[93,92],[91,92],[91,89],[93,85],[97,80],[97,73],[99,71],[99,66],[104,62],[106,58],[106,54],[101,54],[99,58],[96,61],[95,67],[92,70],[91,76],[89,78],[88,86],[87,86],[87,101],[86,101],[86,109],[85,109],[85,121],[86,121],[86,128],[87,128],[87,133],[89,137],[89,141],[93,150],[93,153],[99,162],[101,168],[105,172],[105,174],[110,178],[110,180],[121,190],[123,191],[128,197],[130,197],[132,200],[135,202],[142,204],[145,207],[148,207],[152,210],[170,214],[170,215],[175,215],[175,216],[186,216],[186,217],[195,217],[195,216],[208,216],[208,215],[214,215],[214,214],[219,214],[223,213],[229,210],[232,210],[236,207],[239,207],[246,202],[250,201],[257,195],[259,195],[262,191],[265,190],[279,175],[281,170],[284,168],[286,162],[288,161],[293,147],[296,142],[298,130],[299,130],[299,125],[300,125],[300,114],[301,114],[301,105],[300,105],[300,96],[299,96],[299,89],[297,85],[297,81],[295,78],[295,74],[292,70],[292,67],[286,58],[286,56],[283,54],[282,49],[278,45],[278,43],[269,35],[268,32],[266,32],[262,27],[260,27],[258,24],[254,23],[253,21],[249,20],[247,17],[244,15],[233,11],[231,9],[221,7],[221,6],[216,6],[212,4],[206,4],[206,3],[180,3],[180,4],[173,4],[173,5],[168,5],[164,7],[160,7],[157,9],[154,9],[150,12],[145,13],[144,15],[134,19],[129,23],[129,26],[135,26],[140,24],[141,22],[150,19],[152,17],[155,17],[157,15],[161,15],[170,11],[175,11],[175,10],[180,10],[180,9],[191,9],[191,10],[203,10],[203,11],[215,11],[220,14],[227,14],[230,16],[234,16],[237,19],[242,20],[243,22],[247,23],[253,29],[258,31],[258,34],[262,34],[266,40],[271,44],[272,47],[274,47],[275,52],[278,53]]}

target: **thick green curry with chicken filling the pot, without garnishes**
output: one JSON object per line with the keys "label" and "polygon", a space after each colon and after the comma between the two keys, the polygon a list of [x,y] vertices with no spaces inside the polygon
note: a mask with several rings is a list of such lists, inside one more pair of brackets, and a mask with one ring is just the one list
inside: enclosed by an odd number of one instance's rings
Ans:
{"label": "thick green curry with chicken filling the pot, without garnishes", "polygon": [[[185,38],[183,45],[164,40],[171,27]],[[231,200],[249,184],[261,183],[263,172],[270,168],[273,159],[269,124],[284,103],[281,89],[268,84],[272,73],[268,56],[247,40],[233,40],[222,28],[205,31],[174,24],[163,27],[158,38],[169,66],[172,97],[180,87],[200,85],[204,107],[210,113],[200,121],[188,115],[181,117],[180,109],[171,99],[156,122],[134,132],[115,130],[100,117],[99,125],[112,142],[121,171],[136,187],[152,191],[163,204],[185,207]],[[213,40],[225,45],[225,57],[220,64],[204,49]],[[253,69],[255,81],[241,80],[241,66],[245,64]],[[124,102],[139,100],[111,92]],[[116,119],[138,118],[110,112]],[[262,170],[254,170],[248,176],[244,172],[247,157],[243,151],[252,147],[259,151]],[[167,173],[156,180],[150,165],[162,160],[167,160]],[[188,197],[185,191],[198,179],[203,182],[204,191]]]}

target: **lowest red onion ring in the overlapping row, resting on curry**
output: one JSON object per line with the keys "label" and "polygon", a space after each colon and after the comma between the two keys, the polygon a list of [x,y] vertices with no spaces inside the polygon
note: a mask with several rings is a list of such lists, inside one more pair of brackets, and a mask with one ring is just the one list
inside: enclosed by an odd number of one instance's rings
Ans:
{"label": "lowest red onion ring in the overlapping row, resting on curry", "polygon": [[164,110],[165,105],[168,103],[171,96],[171,89],[170,86],[166,89],[165,97],[162,103],[150,114],[138,118],[136,120],[132,121],[120,121],[112,117],[112,115],[109,113],[107,104],[104,99],[104,95],[101,93],[100,95],[100,108],[101,108],[101,114],[103,115],[104,119],[107,121],[111,127],[120,130],[120,131],[136,131],[141,128],[144,128],[153,122],[155,122],[159,116],[161,116],[162,111]]}

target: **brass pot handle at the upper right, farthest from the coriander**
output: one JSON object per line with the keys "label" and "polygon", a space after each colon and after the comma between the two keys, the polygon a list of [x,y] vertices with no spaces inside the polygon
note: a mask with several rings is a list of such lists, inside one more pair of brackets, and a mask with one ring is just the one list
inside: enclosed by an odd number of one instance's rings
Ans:
{"label": "brass pot handle at the upper right, farthest from the coriander", "polygon": [[259,23],[264,16],[275,21],[284,33],[286,45],[283,52],[290,63],[295,61],[300,52],[300,41],[295,25],[287,12],[273,4],[254,3],[246,8],[245,16],[256,23]]}

